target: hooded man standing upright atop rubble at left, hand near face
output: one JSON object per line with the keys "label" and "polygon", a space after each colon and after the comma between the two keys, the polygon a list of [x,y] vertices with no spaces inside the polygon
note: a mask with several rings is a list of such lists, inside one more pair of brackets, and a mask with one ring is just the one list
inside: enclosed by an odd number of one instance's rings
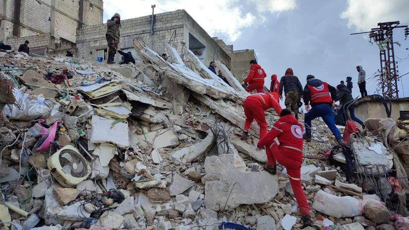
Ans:
{"label": "hooded man standing upright atop rubble at left, hand near face", "polygon": [[108,42],[108,64],[113,64],[115,54],[117,53],[118,44],[119,44],[119,37],[120,37],[120,15],[118,13],[114,14],[111,19],[107,21],[107,33],[105,37],[107,38]]}

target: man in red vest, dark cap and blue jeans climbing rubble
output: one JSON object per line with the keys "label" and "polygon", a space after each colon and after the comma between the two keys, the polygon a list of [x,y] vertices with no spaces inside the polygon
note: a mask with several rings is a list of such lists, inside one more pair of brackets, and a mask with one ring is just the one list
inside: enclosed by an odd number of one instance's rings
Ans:
{"label": "man in red vest, dark cap and blue jeans climbing rubble", "polygon": [[[337,99],[335,87],[324,81],[315,79],[313,75],[308,75],[307,84],[304,87],[303,99],[305,110],[308,112],[304,115],[304,140],[306,142],[311,141],[311,120],[317,117],[322,117],[337,139],[338,144],[346,146],[340,130],[335,126],[334,114],[332,111],[332,108],[335,105],[335,100]],[[309,108],[310,104],[311,109]]]}

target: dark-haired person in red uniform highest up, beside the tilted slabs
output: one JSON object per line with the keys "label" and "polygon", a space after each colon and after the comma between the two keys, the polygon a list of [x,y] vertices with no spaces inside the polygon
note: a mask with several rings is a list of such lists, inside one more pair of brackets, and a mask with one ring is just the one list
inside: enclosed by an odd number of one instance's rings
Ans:
{"label": "dark-haired person in red uniform highest up, beside the tilted slabs", "polygon": [[250,65],[250,72],[248,73],[246,79],[244,79],[244,83],[248,83],[248,86],[245,90],[247,92],[256,90],[257,93],[263,93],[264,78],[267,76],[267,74],[266,72],[264,72],[264,69],[261,68],[259,64],[257,64],[257,61],[251,60]]}

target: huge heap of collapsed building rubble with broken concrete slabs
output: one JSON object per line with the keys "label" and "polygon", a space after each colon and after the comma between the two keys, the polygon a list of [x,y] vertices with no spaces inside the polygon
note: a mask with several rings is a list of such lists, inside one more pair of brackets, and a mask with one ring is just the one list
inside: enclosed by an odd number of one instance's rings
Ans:
{"label": "huge heap of collapsed building rubble with broken concrete slabs", "polygon": [[[0,55],[0,77],[13,82],[0,98],[0,227],[300,229],[286,169],[262,170],[259,127],[239,138],[248,93],[228,68],[218,61],[229,84],[188,49],[180,57],[167,44],[164,60],[134,44],[136,65]],[[346,151],[314,122],[301,168],[306,229],[405,222],[408,129],[369,119]]]}

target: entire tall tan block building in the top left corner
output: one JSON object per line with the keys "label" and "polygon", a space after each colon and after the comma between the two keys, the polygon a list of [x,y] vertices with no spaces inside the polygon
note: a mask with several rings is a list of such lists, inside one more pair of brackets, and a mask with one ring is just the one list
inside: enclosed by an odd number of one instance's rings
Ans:
{"label": "entire tall tan block building in the top left corner", "polygon": [[101,24],[102,0],[0,0],[0,40],[44,55],[75,47],[76,30]]}

